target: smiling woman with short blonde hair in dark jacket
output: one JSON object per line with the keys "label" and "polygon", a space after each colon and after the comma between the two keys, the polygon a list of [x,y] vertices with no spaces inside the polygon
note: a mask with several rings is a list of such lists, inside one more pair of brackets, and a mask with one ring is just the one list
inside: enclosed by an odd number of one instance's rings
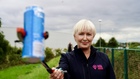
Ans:
{"label": "smiling woman with short blonde hair in dark jacket", "polygon": [[86,19],[74,26],[74,50],[61,55],[59,68],[54,69],[51,79],[115,79],[115,74],[106,54],[92,46],[96,35],[94,24]]}

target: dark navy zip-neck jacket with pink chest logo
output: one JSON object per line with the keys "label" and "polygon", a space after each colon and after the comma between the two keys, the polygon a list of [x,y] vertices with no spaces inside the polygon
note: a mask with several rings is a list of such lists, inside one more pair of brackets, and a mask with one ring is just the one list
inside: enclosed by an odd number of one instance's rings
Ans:
{"label": "dark navy zip-neck jacket with pink chest logo", "polygon": [[62,54],[59,67],[68,72],[64,79],[116,79],[108,56],[92,46],[88,59],[77,46]]}

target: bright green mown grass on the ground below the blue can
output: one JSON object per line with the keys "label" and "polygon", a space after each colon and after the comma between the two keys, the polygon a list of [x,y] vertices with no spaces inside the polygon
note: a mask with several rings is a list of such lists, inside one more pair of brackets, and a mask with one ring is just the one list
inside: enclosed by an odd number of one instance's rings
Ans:
{"label": "bright green mown grass on the ground below the blue can", "polygon": [[[47,64],[55,67],[59,59],[60,57],[56,57]],[[0,79],[49,79],[49,73],[42,64],[28,64],[1,70]]]}

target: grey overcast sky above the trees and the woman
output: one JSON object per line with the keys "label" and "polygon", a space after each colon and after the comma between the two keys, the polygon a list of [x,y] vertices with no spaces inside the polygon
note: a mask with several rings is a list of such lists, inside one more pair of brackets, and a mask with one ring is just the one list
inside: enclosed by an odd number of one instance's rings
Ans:
{"label": "grey overcast sky above the trees and the woman", "polygon": [[48,31],[72,34],[76,22],[89,19],[97,30],[95,41],[113,36],[140,42],[140,0],[0,0],[2,28],[22,27],[25,8],[33,5],[44,9]]}

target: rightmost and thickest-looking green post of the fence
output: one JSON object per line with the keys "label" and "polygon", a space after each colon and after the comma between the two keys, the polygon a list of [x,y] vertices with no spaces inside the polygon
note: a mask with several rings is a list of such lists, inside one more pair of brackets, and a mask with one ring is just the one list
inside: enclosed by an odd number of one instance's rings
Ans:
{"label": "rightmost and thickest-looking green post of the fence", "polygon": [[127,50],[124,49],[124,79],[128,79]]}

